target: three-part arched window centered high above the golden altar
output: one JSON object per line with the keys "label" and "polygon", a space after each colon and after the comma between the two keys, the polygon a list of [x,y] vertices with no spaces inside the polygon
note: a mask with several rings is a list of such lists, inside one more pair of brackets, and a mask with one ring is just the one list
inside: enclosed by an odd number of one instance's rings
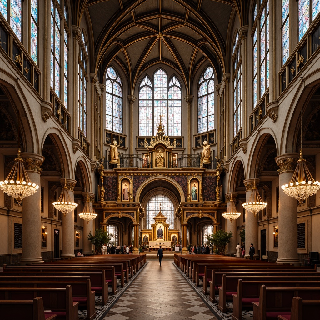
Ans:
{"label": "three-part arched window centered high above the golden altar", "polygon": [[145,76],[139,86],[139,135],[151,136],[157,132],[162,115],[165,135],[181,135],[181,84],[176,76],[168,81],[164,70]]}

